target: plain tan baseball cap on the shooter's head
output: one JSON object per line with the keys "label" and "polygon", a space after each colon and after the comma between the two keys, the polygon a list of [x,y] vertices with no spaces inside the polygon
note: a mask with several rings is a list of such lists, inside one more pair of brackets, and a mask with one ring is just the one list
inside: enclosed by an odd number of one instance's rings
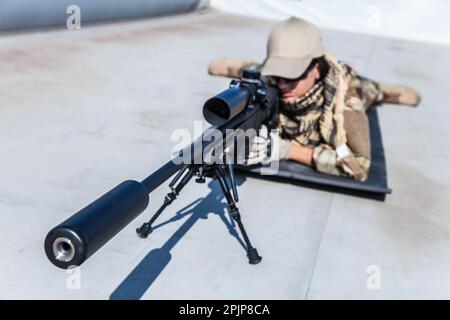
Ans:
{"label": "plain tan baseball cap on the shooter's head", "polygon": [[291,17],[275,25],[267,41],[265,76],[300,77],[314,58],[325,54],[319,29],[312,23]]}

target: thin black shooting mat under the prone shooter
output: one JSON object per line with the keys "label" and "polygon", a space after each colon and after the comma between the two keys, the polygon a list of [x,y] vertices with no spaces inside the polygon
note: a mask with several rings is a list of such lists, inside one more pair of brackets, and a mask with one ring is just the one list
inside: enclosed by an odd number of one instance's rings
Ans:
{"label": "thin black shooting mat under the prone shooter", "polygon": [[391,193],[392,190],[387,184],[386,160],[377,108],[370,108],[367,116],[370,126],[372,161],[369,176],[364,182],[320,173],[311,167],[289,160],[281,160],[279,170],[274,174],[261,174],[262,168],[258,165],[236,165],[236,171],[252,177],[384,201],[385,195]]}

